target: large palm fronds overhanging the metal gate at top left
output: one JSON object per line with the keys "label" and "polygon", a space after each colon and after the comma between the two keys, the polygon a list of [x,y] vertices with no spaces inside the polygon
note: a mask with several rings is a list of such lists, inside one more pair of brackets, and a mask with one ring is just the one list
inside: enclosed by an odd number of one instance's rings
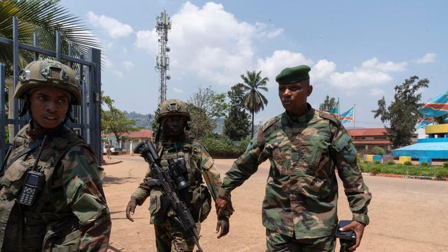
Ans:
{"label": "large palm fronds overhanging the metal gate at top left", "polygon": [[[19,21],[19,41],[33,43],[33,33],[39,35],[41,48],[56,49],[56,31],[61,33],[61,52],[68,54],[73,46],[73,56],[87,55],[88,48],[101,48],[101,43],[81,21],[57,0],[0,0],[0,36],[12,39],[12,17]],[[32,61],[32,54],[21,50],[19,67]],[[12,70],[12,46],[0,44],[0,62]]]}

